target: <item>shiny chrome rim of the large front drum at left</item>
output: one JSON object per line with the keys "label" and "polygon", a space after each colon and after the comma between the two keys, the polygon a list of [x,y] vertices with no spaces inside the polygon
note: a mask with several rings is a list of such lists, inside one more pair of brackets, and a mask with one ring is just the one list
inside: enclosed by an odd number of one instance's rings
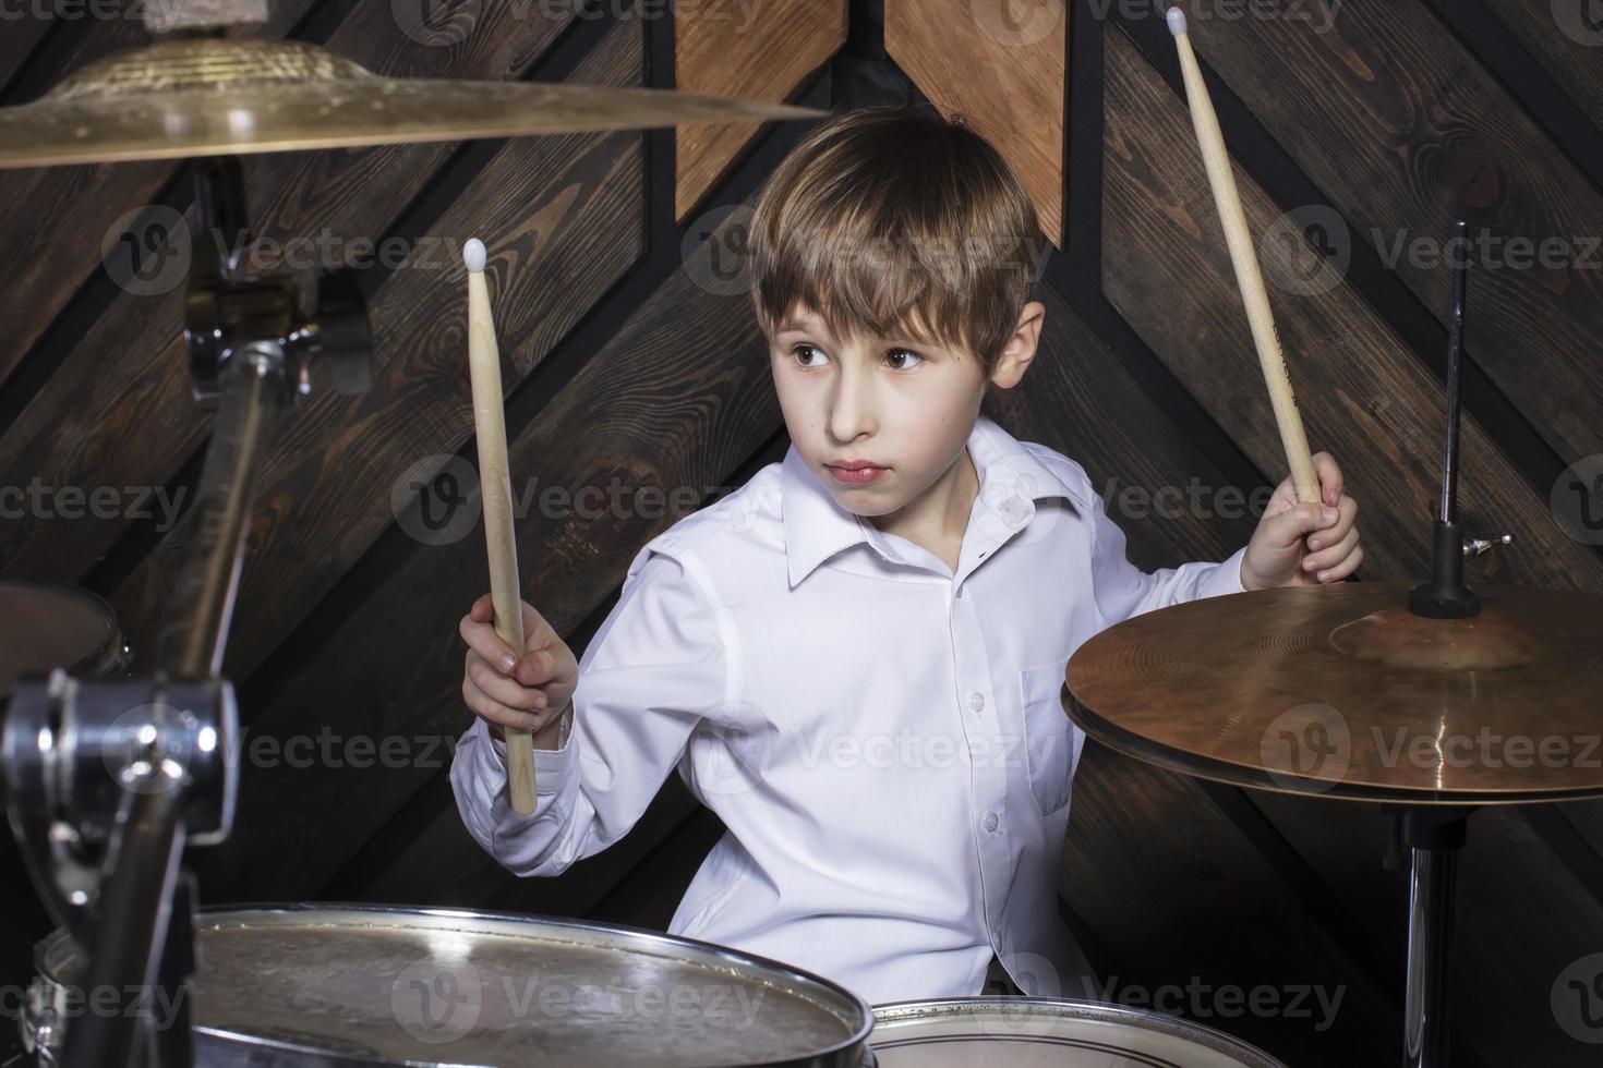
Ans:
{"label": "shiny chrome rim of the large front drum at left", "polygon": [[[638,950],[657,948],[657,950],[681,950],[692,948],[701,951],[705,958],[712,961],[694,961],[694,964],[710,966],[721,962],[725,967],[733,967],[742,975],[752,978],[763,978],[766,982],[774,982],[779,977],[790,980],[792,983],[800,982],[802,986],[813,986],[813,991],[800,991],[795,988],[787,988],[787,993],[797,998],[805,998],[810,1004],[818,1009],[829,1012],[832,1017],[840,1020],[846,1028],[851,1028],[851,1020],[845,1018],[840,1007],[829,1006],[822,998],[816,996],[819,993],[827,993],[835,996],[842,1006],[854,1007],[861,1014],[861,1022],[845,1039],[840,1039],[830,1046],[821,1046],[800,1054],[792,1062],[776,1062],[776,1063],[806,1063],[806,1065],[826,1065],[834,1063],[837,1058],[845,1058],[853,1054],[859,1054],[867,1049],[869,1033],[874,1030],[875,1017],[874,1007],[858,993],[848,990],[846,986],[808,972],[806,969],[797,967],[793,964],[785,964],[784,961],[774,961],[755,953],[747,953],[744,950],[734,950],[731,946],[721,946],[712,942],[702,942],[699,938],[686,938],[684,935],[668,935],[660,930],[649,930],[644,927],[632,927],[625,924],[601,924],[588,919],[574,919],[567,916],[540,916],[537,913],[507,913],[492,909],[463,909],[463,908],[447,908],[447,906],[428,906],[428,905],[373,905],[365,901],[250,901],[250,903],[232,903],[232,905],[208,905],[196,911],[196,929],[218,919],[239,917],[239,919],[258,919],[264,914],[277,917],[293,917],[293,916],[332,916],[337,913],[354,913],[361,916],[373,917],[418,917],[430,916],[436,919],[460,919],[468,922],[486,922],[486,924],[508,924],[508,925],[551,925],[563,927],[574,932],[587,932],[592,935],[603,935],[608,938],[622,937]],[[285,924],[289,925],[289,924]],[[46,945],[59,942],[63,938],[71,938],[66,929],[58,929],[42,938],[34,946],[34,961],[38,974],[51,983],[61,983],[56,975],[50,975],[43,970],[43,956]],[[662,953],[662,956],[672,956],[670,953]],[[763,975],[766,972],[766,975]],[[306,1046],[303,1042],[293,1042],[285,1039],[273,1039],[258,1034],[248,1034],[244,1031],[234,1031],[226,1028],[208,1026],[202,1023],[194,1025],[197,1034],[204,1033],[229,1042],[248,1044],[252,1047],[263,1049],[282,1049],[293,1052],[321,1052],[319,1047]],[[406,1066],[415,1065],[414,1060],[396,1060],[390,1057],[365,1057],[362,1060],[351,1060],[351,1063],[375,1065],[375,1066]],[[840,1060],[840,1063],[848,1063]]]}

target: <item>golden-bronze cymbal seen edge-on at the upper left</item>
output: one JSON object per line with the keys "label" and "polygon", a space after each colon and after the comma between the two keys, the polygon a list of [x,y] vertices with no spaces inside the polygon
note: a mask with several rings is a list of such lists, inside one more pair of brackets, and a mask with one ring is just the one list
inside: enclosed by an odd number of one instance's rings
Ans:
{"label": "golden-bronze cymbal seen edge-on at the upper left", "polygon": [[822,114],[611,85],[386,78],[303,42],[178,38],[0,109],[0,170]]}

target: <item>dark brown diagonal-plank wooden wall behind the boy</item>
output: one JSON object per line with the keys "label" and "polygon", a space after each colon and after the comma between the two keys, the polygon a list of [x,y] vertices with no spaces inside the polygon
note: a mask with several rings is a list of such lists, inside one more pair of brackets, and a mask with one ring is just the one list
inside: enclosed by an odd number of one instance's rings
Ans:
{"label": "dark brown diagonal-plank wooden wall behind the boy", "polygon": [[[385,74],[675,85],[672,18],[620,3],[555,19],[535,3],[458,6],[474,21],[449,45],[409,37],[385,0],[276,0],[260,32]],[[1603,234],[1603,45],[1589,43],[1603,26],[1574,32],[1589,26],[1584,0],[1576,22],[1547,0],[1348,0],[1316,30],[1334,6],[1258,5],[1270,14],[1234,19],[1194,6],[1193,38],[1249,223],[1289,235],[1260,251],[1286,280],[1271,299],[1310,439],[1363,503],[1359,578],[1423,573],[1436,492],[1451,280],[1439,259],[1390,250],[1441,242],[1467,213],[1590,256],[1472,282],[1462,511],[1475,533],[1515,535],[1472,580],[1603,592],[1603,536],[1566,530],[1550,504],[1574,482],[1568,464],[1603,453],[1603,275],[1590,248]],[[1273,485],[1284,461],[1172,38],[1148,5],[1076,0],[1069,19],[1066,239],[1044,275],[1045,351],[987,410],[1080,460],[1100,488]],[[963,99],[973,72],[952,70],[957,88],[920,86],[898,67],[880,3],[850,3],[845,24],[845,43],[790,99]],[[0,104],[141,40],[128,19],[6,22]],[[468,722],[455,623],[487,576],[476,525],[428,527],[474,463],[465,287],[449,264],[466,237],[489,245],[519,484],[619,485],[625,504],[656,487],[699,506],[787,447],[739,287],[739,207],[805,128],[768,126],[733,160],[701,160],[707,192],[678,205],[670,133],[245,159],[260,234],[394,239],[417,255],[362,272],[372,392],[303,402],[263,477],[228,660],[247,764],[234,836],[194,855],[205,901],[667,924],[721,833],[676,777],[622,842],[548,881],[500,869],[452,804],[447,746]],[[144,234],[173,213],[194,221],[188,167],[0,173],[0,485],[192,496],[210,416],[189,395],[181,288],[131,293],[115,282],[128,264],[101,253],[107,234]],[[1149,568],[1220,559],[1255,524],[1212,508],[1162,520],[1109,511]],[[535,504],[519,524],[527,599],[582,650],[632,556],[675,517]],[[188,520],[34,514],[0,527],[0,570],[106,596],[136,652],[149,650],[188,535]],[[273,759],[250,741],[293,738],[311,748]],[[375,759],[386,740],[399,759]],[[292,753],[311,759],[292,765]],[[1074,796],[1061,905],[1114,996],[1213,991],[1188,1002],[1193,1015],[1294,1065],[1398,1058],[1406,881],[1382,866],[1387,825],[1372,807],[1199,783],[1095,745]],[[43,919],[10,869],[0,978],[19,983]],[[1484,810],[1460,869],[1460,1062],[1597,1063],[1552,996],[1566,967],[1603,951],[1603,807]],[[1324,1028],[1311,999],[1254,1014],[1220,993],[1258,986],[1279,1006],[1314,986],[1342,1001]]]}

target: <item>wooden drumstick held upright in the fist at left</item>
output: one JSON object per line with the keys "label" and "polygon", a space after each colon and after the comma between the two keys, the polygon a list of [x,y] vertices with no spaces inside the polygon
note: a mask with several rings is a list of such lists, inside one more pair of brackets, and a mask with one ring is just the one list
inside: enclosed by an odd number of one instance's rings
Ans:
{"label": "wooden drumstick held upright in the fist at left", "polygon": [[[484,242],[462,250],[468,267],[468,371],[473,378],[473,431],[479,442],[479,498],[484,504],[484,548],[491,559],[495,632],[523,655],[523,591],[518,584],[518,541],[511,522],[511,466],[507,461],[507,412],[500,384],[495,317],[484,283]],[[534,732],[505,727],[507,783],[511,810],[534,812]]]}

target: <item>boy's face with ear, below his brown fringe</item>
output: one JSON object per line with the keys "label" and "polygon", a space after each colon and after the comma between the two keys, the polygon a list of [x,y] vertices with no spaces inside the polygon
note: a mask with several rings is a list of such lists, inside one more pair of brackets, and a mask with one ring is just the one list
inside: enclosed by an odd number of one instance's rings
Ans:
{"label": "boy's face with ear, below his brown fringe", "polygon": [[[1026,306],[991,381],[1011,387],[1023,376],[1040,312],[1039,303]],[[986,387],[971,352],[898,336],[837,338],[806,306],[779,323],[768,349],[790,440],[846,511],[896,512],[963,455]],[[837,466],[854,460],[874,468]]]}

